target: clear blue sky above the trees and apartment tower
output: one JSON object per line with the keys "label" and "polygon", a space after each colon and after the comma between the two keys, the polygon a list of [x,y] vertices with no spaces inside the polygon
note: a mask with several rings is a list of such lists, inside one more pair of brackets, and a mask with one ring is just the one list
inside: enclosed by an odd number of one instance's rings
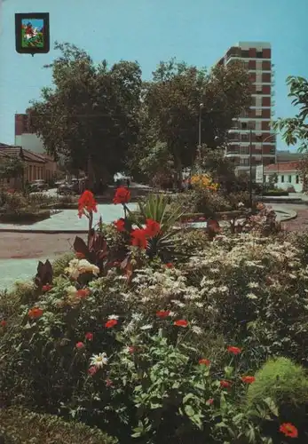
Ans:
{"label": "clear blue sky above the trees and apartment tower", "polygon": [[[0,0],[1,3],[1,0]],[[31,6],[26,7],[26,4]],[[14,14],[50,12],[54,41],[70,42],[94,61],[138,60],[149,78],[160,60],[176,57],[211,67],[239,41],[272,43],[276,115],[292,116],[288,75],[308,76],[307,0],[4,0],[0,35],[0,142],[14,141],[14,114],[51,84],[43,68],[57,55],[15,52]],[[4,62],[3,62],[4,61]],[[278,148],[287,148],[278,140]]]}

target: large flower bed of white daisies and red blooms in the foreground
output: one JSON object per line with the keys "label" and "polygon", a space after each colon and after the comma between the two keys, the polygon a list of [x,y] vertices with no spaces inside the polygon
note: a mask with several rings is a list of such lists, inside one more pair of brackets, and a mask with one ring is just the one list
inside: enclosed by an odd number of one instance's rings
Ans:
{"label": "large flower bed of white daisies and red blooms in the foreground", "polygon": [[[92,226],[54,273],[0,297],[0,393],[97,425],[120,444],[307,441],[308,263],[284,236],[187,234],[163,196]],[[265,220],[263,219],[265,218]],[[308,247],[306,247],[308,250]],[[56,268],[56,267],[54,267]]]}

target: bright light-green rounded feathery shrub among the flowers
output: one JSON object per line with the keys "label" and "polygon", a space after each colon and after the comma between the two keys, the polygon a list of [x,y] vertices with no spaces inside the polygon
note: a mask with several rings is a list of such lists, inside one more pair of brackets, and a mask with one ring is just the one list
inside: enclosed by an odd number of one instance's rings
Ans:
{"label": "bright light-green rounded feathery shrub among the flowers", "polygon": [[256,381],[249,385],[247,400],[250,406],[270,397],[280,407],[308,403],[308,377],[300,365],[288,358],[270,359],[255,375]]}

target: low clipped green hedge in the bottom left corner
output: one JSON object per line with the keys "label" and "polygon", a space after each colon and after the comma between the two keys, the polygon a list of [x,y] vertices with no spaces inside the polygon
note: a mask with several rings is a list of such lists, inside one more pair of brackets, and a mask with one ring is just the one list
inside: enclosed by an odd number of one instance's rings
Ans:
{"label": "low clipped green hedge in the bottom left corner", "polygon": [[115,439],[96,428],[65,422],[58,416],[39,415],[16,408],[0,409],[3,444],[114,444]]}

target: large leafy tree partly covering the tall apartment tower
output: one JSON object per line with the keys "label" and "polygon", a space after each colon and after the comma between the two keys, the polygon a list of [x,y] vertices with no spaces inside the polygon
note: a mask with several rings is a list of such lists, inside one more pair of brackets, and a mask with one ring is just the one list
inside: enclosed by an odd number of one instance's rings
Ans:
{"label": "large leafy tree partly covering the tall apartment tower", "polygon": [[216,66],[209,74],[175,59],[160,63],[145,83],[144,107],[157,139],[167,144],[178,181],[196,157],[200,104],[201,140],[217,147],[217,139],[225,138],[233,117],[249,107],[250,99],[249,75],[237,63]]}

